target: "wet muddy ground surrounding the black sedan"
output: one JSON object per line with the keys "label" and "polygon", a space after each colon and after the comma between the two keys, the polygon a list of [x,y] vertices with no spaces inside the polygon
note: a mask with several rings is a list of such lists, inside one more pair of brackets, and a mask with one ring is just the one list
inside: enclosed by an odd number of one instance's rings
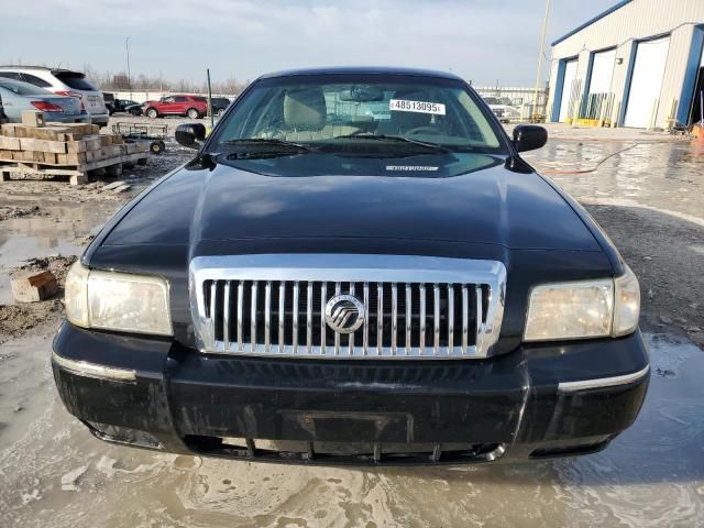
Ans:
{"label": "wet muddy ground surrounding the black sedan", "polygon": [[[166,122],[173,130],[179,120]],[[61,278],[118,208],[189,152],[169,143],[150,166],[125,173],[133,188],[123,194],[105,189],[108,182],[0,184],[0,527],[700,526],[704,150],[618,134],[558,129],[526,157],[585,205],[639,276],[650,392],[636,425],[606,451],[517,465],[277,466],[95,440],[64,410],[51,377],[61,300],[14,306],[9,276],[30,265],[54,266]],[[596,172],[564,174],[619,151]]]}

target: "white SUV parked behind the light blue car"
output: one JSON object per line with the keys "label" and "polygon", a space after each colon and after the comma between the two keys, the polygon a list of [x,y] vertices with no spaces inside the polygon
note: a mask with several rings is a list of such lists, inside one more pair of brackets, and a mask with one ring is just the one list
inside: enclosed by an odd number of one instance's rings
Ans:
{"label": "white SUV parked behind the light blue car", "polygon": [[108,124],[110,113],[102,94],[80,72],[44,66],[0,66],[0,77],[23,80],[59,96],[77,97],[90,116],[91,123],[100,127]]}

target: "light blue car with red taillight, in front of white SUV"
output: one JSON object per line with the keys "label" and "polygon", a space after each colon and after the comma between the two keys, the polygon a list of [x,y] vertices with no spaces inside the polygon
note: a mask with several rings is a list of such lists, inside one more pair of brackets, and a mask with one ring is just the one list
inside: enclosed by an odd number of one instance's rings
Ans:
{"label": "light blue car with red taillight, in front of white SUV", "polygon": [[21,123],[24,110],[41,110],[47,122],[90,122],[90,116],[77,97],[57,96],[29,82],[0,78],[0,98],[11,123]]}

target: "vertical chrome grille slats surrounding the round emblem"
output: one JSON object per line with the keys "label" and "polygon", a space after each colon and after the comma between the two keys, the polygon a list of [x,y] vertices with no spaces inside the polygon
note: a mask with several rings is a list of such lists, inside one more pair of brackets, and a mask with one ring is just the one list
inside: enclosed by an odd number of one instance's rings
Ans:
{"label": "vertical chrome grille slats surrounding the round emblem", "polygon": [[[499,301],[503,316],[505,289],[497,290],[491,279],[324,278],[308,273],[292,274],[290,279],[265,274],[201,279],[197,283],[200,349],[252,355],[451,359],[486,356],[496,341],[493,307]],[[333,296],[348,294],[364,311],[359,329],[343,334],[328,326],[326,306]],[[348,320],[353,319],[342,323]]]}

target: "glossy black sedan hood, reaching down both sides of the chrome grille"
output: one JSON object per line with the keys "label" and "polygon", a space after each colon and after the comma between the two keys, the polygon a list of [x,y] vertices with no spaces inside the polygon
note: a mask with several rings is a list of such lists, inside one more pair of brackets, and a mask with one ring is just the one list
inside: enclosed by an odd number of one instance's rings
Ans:
{"label": "glossy black sedan hood, reaching down both sides of the chrome grille", "polygon": [[603,238],[597,243],[598,228],[569,200],[520,158],[502,156],[302,155],[209,168],[194,162],[125,206],[82,262],[166,278],[174,336],[193,346],[188,265],[196,256],[358,253],[501,261],[508,271],[501,353],[520,342],[535,284],[613,273],[610,246]]}

